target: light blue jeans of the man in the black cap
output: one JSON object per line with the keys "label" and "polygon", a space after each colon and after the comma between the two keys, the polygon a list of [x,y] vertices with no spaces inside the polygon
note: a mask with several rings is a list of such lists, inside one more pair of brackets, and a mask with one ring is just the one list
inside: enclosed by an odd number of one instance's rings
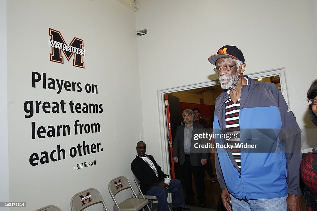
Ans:
{"label": "light blue jeans of the man in the black cap", "polygon": [[274,199],[251,199],[244,201],[230,195],[230,199],[233,211],[287,211],[287,196]]}

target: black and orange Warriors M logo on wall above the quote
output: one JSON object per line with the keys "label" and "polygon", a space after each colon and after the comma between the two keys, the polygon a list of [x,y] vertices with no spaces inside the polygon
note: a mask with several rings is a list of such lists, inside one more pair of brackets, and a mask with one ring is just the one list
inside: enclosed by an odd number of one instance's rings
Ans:
{"label": "black and orange Warriors M logo on wall above the quote", "polygon": [[86,51],[82,49],[84,40],[74,37],[69,45],[66,44],[63,36],[59,31],[49,28],[49,46],[52,47],[52,53],[49,54],[49,60],[64,64],[62,53],[69,59],[74,55],[73,65],[75,67],[85,68],[85,62],[82,61],[82,56],[86,56]]}

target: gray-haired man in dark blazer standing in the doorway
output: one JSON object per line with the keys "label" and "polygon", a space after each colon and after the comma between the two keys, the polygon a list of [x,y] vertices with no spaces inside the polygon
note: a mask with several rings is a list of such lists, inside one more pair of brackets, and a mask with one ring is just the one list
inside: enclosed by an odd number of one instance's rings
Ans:
{"label": "gray-haired man in dark blazer standing in the doorway", "polygon": [[204,169],[203,165],[207,162],[208,153],[206,152],[195,152],[194,144],[194,133],[195,129],[203,129],[202,125],[194,123],[194,112],[191,109],[185,109],[183,111],[184,125],[177,127],[174,142],[173,142],[173,159],[174,162],[181,165],[183,176],[184,176],[184,188],[186,203],[194,201],[195,193],[192,189],[192,177],[194,176],[197,199],[199,205],[204,206],[206,197],[205,193],[205,182],[204,182]]}

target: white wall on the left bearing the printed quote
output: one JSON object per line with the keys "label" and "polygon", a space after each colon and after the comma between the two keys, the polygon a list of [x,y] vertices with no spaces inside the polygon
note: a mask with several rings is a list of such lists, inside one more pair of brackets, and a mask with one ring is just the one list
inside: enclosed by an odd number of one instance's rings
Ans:
{"label": "white wall on the left bearing the printed quote", "polygon": [[[135,12],[115,0],[11,0],[6,11],[10,201],[27,202],[27,208],[10,210],[34,210],[49,204],[70,210],[72,196],[90,187],[100,190],[111,209],[108,182],[120,175],[133,181],[130,163],[143,132]],[[74,67],[74,56],[68,62],[63,53],[64,64],[49,60],[49,28],[60,31],[66,44],[74,37],[84,40],[84,69]],[[57,94],[43,89],[42,81],[32,88],[32,71],[46,73],[47,80],[81,82],[83,90],[63,89]],[[96,84],[98,94],[86,93],[86,83]],[[23,104],[28,100],[64,100],[66,113],[44,113],[40,107],[38,114],[25,118]],[[103,112],[73,114],[71,100],[103,104]],[[75,135],[75,120],[100,123],[100,133]],[[31,122],[36,128],[69,125],[71,135],[32,139]],[[84,140],[89,145],[100,142],[103,151],[71,158],[69,149]],[[65,149],[66,159],[36,166],[29,163],[32,153],[50,153],[57,145]],[[96,165],[76,169],[77,164],[95,159]]]}

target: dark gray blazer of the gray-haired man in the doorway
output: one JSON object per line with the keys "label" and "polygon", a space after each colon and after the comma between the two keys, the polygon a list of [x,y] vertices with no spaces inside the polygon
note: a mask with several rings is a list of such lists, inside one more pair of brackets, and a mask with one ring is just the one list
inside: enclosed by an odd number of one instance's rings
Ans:
{"label": "dark gray blazer of the gray-haired man in the doorway", "polygon": [[[183,165],[185,162],[185,153],[184,153],[184,129],[185,124],[180,125],[176,129],[175,138],[173,142],[173,158],[178,158],[178,162],[180,165]],[[204,129],[204,126],[196,124],[194,122],[193,129]],[[201,159],[207,159],[208,158],[208,152],[194,152],[194,144],[200,142],[200,140],[196,141],[194,140],[194,130],[191,136],[191,164],[193,166],[201,166]]]}

